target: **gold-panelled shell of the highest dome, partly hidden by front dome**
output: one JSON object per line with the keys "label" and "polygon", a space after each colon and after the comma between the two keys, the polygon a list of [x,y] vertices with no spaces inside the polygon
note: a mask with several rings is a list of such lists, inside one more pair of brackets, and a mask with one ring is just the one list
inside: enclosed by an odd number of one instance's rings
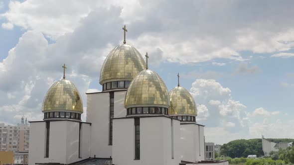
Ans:
{"label": "gold-panelled shell of the highest dome, partly hidden by front dome", "polygon": [[106,57],[99,83],[132,81],[145,66],[145,61],[136,48],[128,44],[119,45]]}

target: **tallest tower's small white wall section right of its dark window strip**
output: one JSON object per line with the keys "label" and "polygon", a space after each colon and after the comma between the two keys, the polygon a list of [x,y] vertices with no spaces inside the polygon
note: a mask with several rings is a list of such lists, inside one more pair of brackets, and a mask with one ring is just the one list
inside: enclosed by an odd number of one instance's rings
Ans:
{"label": "tallest tower's small white wall section right of its dark window strip", "polygon": [[126,90],[114,92],[114,117],[126,117],[127,110],[125,105]]}

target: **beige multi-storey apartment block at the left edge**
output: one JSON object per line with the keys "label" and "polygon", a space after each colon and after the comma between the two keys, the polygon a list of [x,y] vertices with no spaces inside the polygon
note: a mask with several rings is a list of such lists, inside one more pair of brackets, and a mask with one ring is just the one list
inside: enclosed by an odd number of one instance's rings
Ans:
{"label": "beige multi-storey apartment block at the left edge", "polygon": [[21,118],[17,126],[0,123],[0,151],[28,152],[29,125]]}

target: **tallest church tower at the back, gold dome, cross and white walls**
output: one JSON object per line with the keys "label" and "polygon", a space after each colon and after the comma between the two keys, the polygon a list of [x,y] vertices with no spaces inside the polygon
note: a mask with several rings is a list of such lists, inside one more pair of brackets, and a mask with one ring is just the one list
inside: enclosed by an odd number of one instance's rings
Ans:
{"label": "tallest church tower at the back, gold dome, cross and white walls", "polygon": [[126,91],[137,74],[146,64],[139,51],[126,42],[115,47],[106,57],[100,73],[101,92],[87,94],[87,122],[92,123],[91,157],[112,157],[113,118],[125,117]]}

